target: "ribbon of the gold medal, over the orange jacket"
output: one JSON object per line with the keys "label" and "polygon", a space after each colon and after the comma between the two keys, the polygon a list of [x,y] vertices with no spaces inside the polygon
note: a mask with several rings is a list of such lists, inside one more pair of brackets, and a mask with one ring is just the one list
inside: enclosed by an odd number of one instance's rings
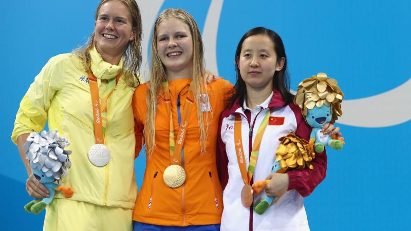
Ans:
{"label": "ribbon of the gold medal, over the orange jacket", "polygon": [[170,163],[171,164],[178,164],[181,166],[181,156],[183,155],[183,145],[185,134],[188,130],[189,118],[191,109],[194,103],[194,94],[193,94],[193,87],[190,84],[189,92],[187,97],[185,98],[184,110],[181,118],[181,123],[179,124],[179,129],[177,133],[177,139],[174,139],[174,124],[173,124],[173,114],[171,112],[171,100],[170,100],[170,91],[169,91],[169,82],[164,81],[162,82],[164,95],[164,102],[165,106],[167,107],[167,111],[169,112],[170,117]]}

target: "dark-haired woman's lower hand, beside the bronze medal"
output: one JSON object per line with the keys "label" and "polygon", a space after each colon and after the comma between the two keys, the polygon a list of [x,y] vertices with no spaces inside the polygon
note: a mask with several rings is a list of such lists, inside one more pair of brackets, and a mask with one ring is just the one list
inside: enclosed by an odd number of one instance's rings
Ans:
{"label": "dark-haired woman's lower hand, beside the bronze medal", "polygon": [[277,202],[278,199],[283,196],[288,190],[288,174],[280,174],[276,172],[271,172],[266,178],[270,180],[267,186],[264,188],[266,195],[268,197],[275,197],[273,203]]}

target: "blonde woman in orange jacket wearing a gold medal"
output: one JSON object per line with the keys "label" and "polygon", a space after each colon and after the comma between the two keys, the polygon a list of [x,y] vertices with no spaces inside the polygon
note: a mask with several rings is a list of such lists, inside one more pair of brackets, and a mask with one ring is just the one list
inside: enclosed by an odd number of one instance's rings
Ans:
{"label": "blonde woman in orange jacket wearing a gold medal", "polygon": [[[151,47],[151,81],[136,89],[132,103],[136,155],[144,142],[147,147],[134,230],[219,230],[216,138],[233,86],[222,79],[203,84],[201,35],[184,10],[167,9],[158,16]],[[174,170],[167,168],[171,165]],[[184,175],[181,185],[167,181]]]}

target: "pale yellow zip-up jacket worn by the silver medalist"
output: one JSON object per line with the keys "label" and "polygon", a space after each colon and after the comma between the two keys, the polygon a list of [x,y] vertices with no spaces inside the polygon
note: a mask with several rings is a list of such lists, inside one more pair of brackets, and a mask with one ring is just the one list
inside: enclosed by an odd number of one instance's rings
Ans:
{"label": "pale yellow zip-up jacket worn by the silver medalist", "polygon": [[[90,55],[101,99],[107,80],[121,71],[122,61],[119,66],[106,63],[95,48]],[[49,130],[58,128],[60,136],[70,142],[66,149],[72,150],[72,167],[62,180],[64,186],[74,190],[69,200],[132,209],[137,197],[133,92],[134,88],[121,76],[107,100],[105,145],[111,160],[104,167],[96,167],[87,155],[95,144],[87,73],[76,54],[54,56],[35,77],[20,103],[11,139],[16,143],[21,134],[40,132],[48,121]],[[60,192],[55,197],[64,198]]]}

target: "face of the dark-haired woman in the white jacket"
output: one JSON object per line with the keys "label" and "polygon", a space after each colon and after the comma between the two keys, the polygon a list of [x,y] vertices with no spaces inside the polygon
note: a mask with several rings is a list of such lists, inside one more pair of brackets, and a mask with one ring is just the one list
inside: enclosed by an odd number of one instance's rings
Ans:
{"label": "face of the dark-haired woman in the white jacket", "polygon": [[273,88],[275,71],[284,66],[284,58],[277,60],[273,41],[265,34],[247,37],[241,46],[238,68],[247,87]]}

